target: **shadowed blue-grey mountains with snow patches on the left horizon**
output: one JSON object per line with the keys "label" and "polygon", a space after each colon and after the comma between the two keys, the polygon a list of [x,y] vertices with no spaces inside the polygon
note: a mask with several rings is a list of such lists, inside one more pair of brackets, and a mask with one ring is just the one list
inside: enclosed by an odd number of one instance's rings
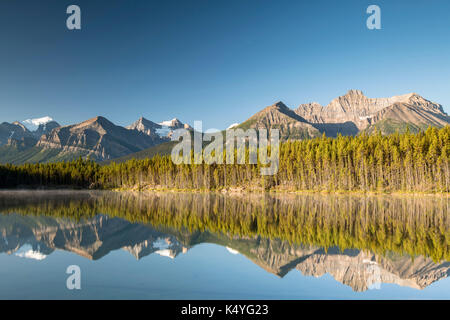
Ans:
{"label": "shadowed blue-grey mountains with snow patches on the left horizon", "polygon": [[0,162],[55,162],[80,156],[111,160],[169,142],[176,129],[191,129],[176,118],[155,123],[141,117],[126,128],[101,116],[68,126],[42,122],[34,131],[24,123],[0,124]]}

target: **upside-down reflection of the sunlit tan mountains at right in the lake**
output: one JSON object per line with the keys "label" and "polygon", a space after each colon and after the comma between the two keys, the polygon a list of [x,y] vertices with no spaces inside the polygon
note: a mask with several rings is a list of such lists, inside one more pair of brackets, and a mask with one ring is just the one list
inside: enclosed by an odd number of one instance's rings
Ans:
{"label": "upside-down reflection of the sunlit tan mountains at right in the lake", "polygon": [[367,250],[295,247],[285,242],[263,240],[250,249],[252,260],[280,277],[296,269],[303,275],[321,277],[330,274],[336,281],[355,291],[365,291],[380,283],[393,283],[424,289],[450,275],[450,262],[434,263],[422,256],[373,254]]}

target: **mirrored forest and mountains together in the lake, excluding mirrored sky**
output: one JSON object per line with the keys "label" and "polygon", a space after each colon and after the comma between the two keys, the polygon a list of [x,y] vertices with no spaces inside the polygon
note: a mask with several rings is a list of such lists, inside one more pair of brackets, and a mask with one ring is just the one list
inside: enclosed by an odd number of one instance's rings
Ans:
{"label": "mirrored forest and mountains together in the lake, excluding mirrored sky", "polygon": [[450,273],[449,204],[431,196],[3,192],[0,252],[175,258],[214,243],[279,277],[298,270],[328,273],[355,291],[423,289]]}

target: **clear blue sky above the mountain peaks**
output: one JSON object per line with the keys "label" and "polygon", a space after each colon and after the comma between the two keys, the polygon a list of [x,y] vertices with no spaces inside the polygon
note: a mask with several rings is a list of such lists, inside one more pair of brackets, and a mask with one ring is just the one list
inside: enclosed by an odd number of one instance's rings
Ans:
{"label": "clear blue sky above the mountain peaks", "polygon": [[[82,30],[66,28],[77,4]],[[382,30],[366,28],[381,7]],[[225,128],[282,100],[417,92],[450,111],[450,1],[0,2],[0,122]]]}

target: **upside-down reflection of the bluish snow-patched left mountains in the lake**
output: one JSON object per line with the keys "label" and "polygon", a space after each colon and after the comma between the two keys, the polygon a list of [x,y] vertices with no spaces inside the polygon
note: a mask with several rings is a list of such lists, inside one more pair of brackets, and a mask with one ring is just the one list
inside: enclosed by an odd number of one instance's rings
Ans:
{"label": "upside-down reflection of the bluish snow-patched left mountains in the lake", "polygon": [[132,224],[119,218],[99,215],[75,222],[67,219],[0,216],[0,252],[16,253],[24,245],[48,255],[56,249],[97,260],[117,249],[129,251],[137,259],[151,253],[174,258],[183,247],[173,236],[150,226]]}

